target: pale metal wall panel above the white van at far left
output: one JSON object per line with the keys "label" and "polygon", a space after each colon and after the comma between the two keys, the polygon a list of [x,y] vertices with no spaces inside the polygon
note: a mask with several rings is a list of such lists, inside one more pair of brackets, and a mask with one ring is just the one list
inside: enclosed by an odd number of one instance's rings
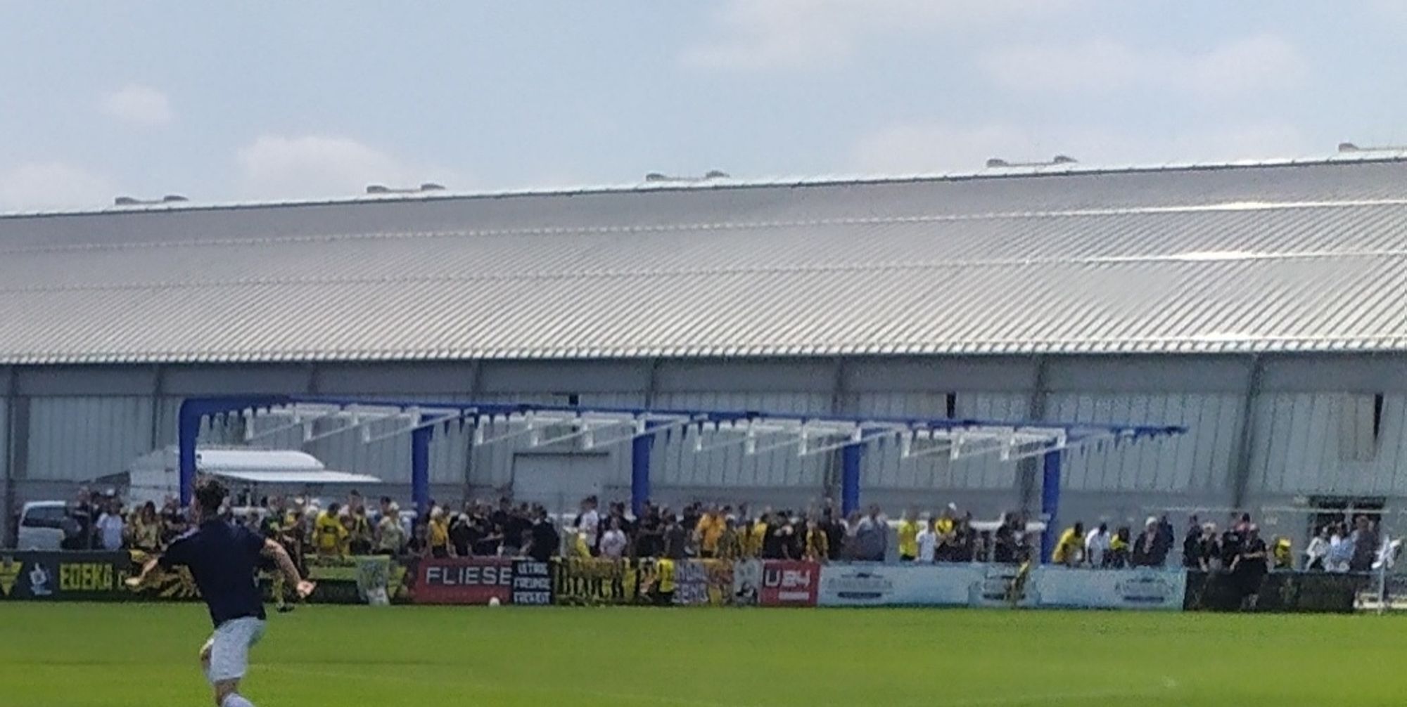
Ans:
{"label": "pale metal wall panel above the white van at far left", "polygon": [[151,398],[32,398],[30,479],[83,481],[127,469],[151,451]]}

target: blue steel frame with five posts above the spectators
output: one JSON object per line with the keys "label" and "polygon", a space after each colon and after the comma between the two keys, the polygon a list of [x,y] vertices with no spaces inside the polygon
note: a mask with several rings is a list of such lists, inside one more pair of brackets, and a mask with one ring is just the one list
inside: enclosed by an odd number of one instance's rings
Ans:
{"label": "blue steel frame with five posts above the spectators", "polygon": [[[191,499],[191,492],[196,485],[196,443],[200,437],[201,420],[205,417],[221,419],[228,415],[242,415],[245,410],[252,410],[257,415],[260,410],[272,410],[274,408],[294,405],[294,403],[314,403],[314,405],[364,405],[364,406],[381,406],[381,408],[400,408],[402,410],[421,409],[421,410],[459,410],[460,415],[466,417],[473,417],[473,423],[478,424],[483,417],[505,416],[505,415],[521,415],[528,412],[581,412],[581,413],[628,413],[635,416],[642,415],[661,415],[661,416],[688,416],[695,420],[689,424],[713,424],[713,423],[733,423],[733,422],[747,422],[747,420],[765,420],[768,417],[779,417],[788,420],[802,420],[802,422],[840,422],[840,423],[854,423],[861,432],[862,437],[871,432],[884,432],[884,427],[875,427],[874,430],[865,430],[865,424],[885,426],[885,424],[905,424],[912,430],[955,430],[962,427],[1040,427],[1064,430],[1067,446],[1078,446],[1085,440],[1092,437],[1110,437],[1114,440],[1135,441],[1140,439],[1152,439],[1161,436],[1175,436],[1186,432],[1183,427],[1176,426],[1141,426],[1141,424],[1071,424],[1071,423],[1051,423],[1051,422],[993,422],[993,420],[947,420],[947,419],[922,419],[922,417],[851,417],[851,416],[798,416],[798,415],[770,415],[756,410],[674,410],[674,409],[649,409],[649,408],[582,408],[582,406],[567,406],[567,405],[528,405],[528,403],[445,403],[445,402],[431,402],[431,401],[376,401],[376,399],[353,399],[353,398],[324,398],[317,395],[235,395],[235,396],[212,396],[212,398],[189,398],[182,402],[180,406],[180,430],[177,434],[180,447],[180,502],[182,506],[189,506]],[[446,420],[440,423],[445,429],[454,424],[454,420]],[[429,465],[431,465],[431,440],[435,437],[435,429],[440,424],[418,427],[411,430],[411,496],[415,500],[415,507],[425,513],[429,506]],[[646,430],[656,427],[656,422],[647,420]],[[650,450],[654,443],[654,434],[642,434],[635,437],[630,443],[630,507],[636,514],[644,510],[644,505],[650,499]],[[840,506],[841,510],[848,514],[860,509],[860,475],[861,464],[864,460],[864,450],[868,441],[857,441],[853,444],[846,444],[841,447],[841,474],[840,474]],[[1059,476],[1061,476],[1061,458],[1065,451],[1062,448],[1054,448],[1047,451],[1044,457],[1044,465],[1041,472],[1041,516],[1044,517],[1047,526],[1045,533],[1041,536],[1041,561],[1048,561],[1051,551],[1055,548],[1055,537],[1059,531],[1057,516],[1059,513]]]}

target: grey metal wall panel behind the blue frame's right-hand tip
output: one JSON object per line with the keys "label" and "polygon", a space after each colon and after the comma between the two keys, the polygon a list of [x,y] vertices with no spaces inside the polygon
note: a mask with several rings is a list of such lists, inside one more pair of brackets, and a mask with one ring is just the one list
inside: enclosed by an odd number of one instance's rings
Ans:
{"label": "grey metal wall panel behind the blue frame's right-hand tip", "polygon": [[1076,451],[1065,462],[1065,486],[1075,491],[1138,491],[1182,493],[1221,489],[1241,430],[1241,396],[1235,394],[1051,394],[1047,419],[1061,422],[1126,422],[1180,424],[1188,433],[1138,444],[1104,444]]}

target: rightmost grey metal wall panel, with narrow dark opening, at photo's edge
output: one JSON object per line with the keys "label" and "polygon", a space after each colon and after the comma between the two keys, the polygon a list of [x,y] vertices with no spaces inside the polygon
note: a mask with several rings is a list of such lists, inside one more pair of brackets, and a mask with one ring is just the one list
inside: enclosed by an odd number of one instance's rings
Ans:
{"label": "rightmost grey metal wall panel, with narrow dark opening, at photo's edge", "polygon": [[1407,395],[1384,395],[1373,439],[1369,394],[1262,394],[1254,406],[1249,493],[1407,493],[1404,412]]}

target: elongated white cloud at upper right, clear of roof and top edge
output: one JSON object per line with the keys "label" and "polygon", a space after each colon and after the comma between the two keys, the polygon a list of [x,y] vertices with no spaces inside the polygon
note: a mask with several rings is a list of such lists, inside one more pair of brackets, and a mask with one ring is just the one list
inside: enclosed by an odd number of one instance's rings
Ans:
{"label": "elongated white cloud at upper right, clear of roof and top edge", "polygon": [[1294,45],[1272,35],[1237,39],[1200,53],[1102,39],[1013,45],[979,60],[998,83],[1020,91],[1113,93],[1145,87],[1213,98],[1294,86],[1309,66]]}

